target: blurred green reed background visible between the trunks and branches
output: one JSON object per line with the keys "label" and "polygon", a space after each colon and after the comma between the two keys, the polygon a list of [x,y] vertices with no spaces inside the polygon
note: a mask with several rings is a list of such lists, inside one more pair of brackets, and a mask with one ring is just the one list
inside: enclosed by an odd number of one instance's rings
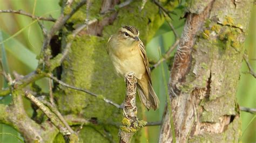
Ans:
{"label": "blurred green reed background visible between the trunks and branches", "polygon": [[[48,17],[51,15],[53,18],[57,18],[60,13],[60,7],[58,1],[52,0],[0,0],[0,9],[13,9],[13,10],[25,10],[26,12],[33,13],[36,16]],[[172,15],[173,25],[176,28],[179,35],[183,30],[184,19],[180,19],[183,15],[184,9],[177,8],[174,10],[176,15]],[[255,38],[255,24],[256,18],[254,13],[256,12],[256,6],[254,5],[250,28],[248,31],[248,37],[246,39],[246,49],[251,65],[256,70],[256,38]],[[16,71],[21,75],[26,75],[35,69],[37,66],[36,55],[39,54],[42,47],[43,35],[38,24],[32,23],[33,20],[26,16],[21,16],[11,13],[0,13],[0,31],[2,31],[3,40],[8,39],[11,35],[14,35],[18,31],[22,30],[16,37],[12,37],[10,40],[4,42],[1,46],[1,58],[3,64],[8,63],[10,73]],[[46,28],[50,28],[52,22],[43,22]],[[27,26],[31,25],[31,26]],[[26,27],[27,26],[27,27]],[[25,27],[25,28],[24,28]],[[1,38],[0,38],[1,39]],[[0,41],[1,42],[1,41]],[[171,31],[169,25],[164,23],[157,31],[154,38],[146,45],[147,55],[150,61],[157,61],[160,55],[163,55],[167,49],[174,42],[174,34]],[[5,50],[3,50],[5,49]],[[174,51],[175,52],[175,51]],[[172,55],[174,54],[172,53]],[[6,53],[6,62],[4,62],[4,56]],[[254,60],[253,60],[254,59]],[[6,67],[6,66],[5,66]],[[3,69],[2,69],[3,70]],[[248,71],[248,68],[243,62],[241,68],[240,84],[237,92],[237,99],[240,106],[246,106],[248,108],[256,108],[256,88],[255,78],[250,74],[244,74]],[[147,121],[159,121],[164,112],[164,105],[166,100],[166,82],[169,81],[169,70],[166,62],[161,63],[156,69],[152,71],[153,87],[157,92],[160,99],[160,109],[157,111],[149,111],[143,113],[144,120]],[[1,81],[4,81],[0,77]],[[4,88],[6,83],[1,82],[1,87]],[[41,87],[47,90],[48,85],[44,82],[40,83]],[[0,100],[0,103],[8,104],[10,102],[10,96],[6,96]],[[25,102],[25,108],[31,112],[30,103]],[[242,132],[244,133],[241,140],[242,142],[255,142],[256,141],[256,120],[252,121],[247,130],[246,126],[253,118],[253,115],[246,112],[241,112],[242,119]],[[159,135],[159,126],[150,126],[143,128],[142,142],[157,142]],[[10,126],[0,124],[0,133],[12,133],[21,138],[21,135]],[[20,142],[17,138],[11,137],[8,134],[0,134],[0,142]]]}

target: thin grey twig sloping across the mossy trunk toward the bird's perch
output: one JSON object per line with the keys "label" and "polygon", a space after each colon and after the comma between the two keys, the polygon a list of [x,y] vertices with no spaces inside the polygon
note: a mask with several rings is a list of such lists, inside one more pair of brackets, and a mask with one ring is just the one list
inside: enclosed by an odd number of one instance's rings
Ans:
{"label": "thin grey twig sloping across the mossy trunk toward the bird's perch", "polygon": [[95,96],[95,97],[98,97],[99,99],[102,99],[103,101],[105,101],[106,103],[109,103],[113,106],[116,106],[116,108],[120,108],[120,105],[118,105],[117,103],[114,103],[112,102],[110,99],[107,99],[105,97],[103,97],[102,95],[97,95],[91,91],[88,91],[86,89],[82,89],[82,88],[77,88],[77,87],[73,87],[72,85],[69,85],[69,84],[66,84],[64,83],[63,81],[60,81],[58,80],[56,77],[48,74],[47,75],[48,77],[50,77],[52,80],[56,81],[57,83],[59,83],[60,85],[63,85],[64,87],[67,87],[67,88],[71,88],[71,89],[75,89],[75,90],[78,90],[78,91],[82,91],[82,92],[85,92],[86,94],[89,94],[89,95],[92,95],[92,96]]}

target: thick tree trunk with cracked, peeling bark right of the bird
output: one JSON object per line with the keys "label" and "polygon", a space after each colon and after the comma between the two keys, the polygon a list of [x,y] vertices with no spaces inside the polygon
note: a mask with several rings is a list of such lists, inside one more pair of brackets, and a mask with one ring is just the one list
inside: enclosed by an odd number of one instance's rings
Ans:
{"label": "thick tree trunk with cracked, peeling bark right of the bird", "polygon": [[177,142],[239,141],[235,92],[252,4],[246,0],[188,2],[159,142],[173,142],[174,134]]}

